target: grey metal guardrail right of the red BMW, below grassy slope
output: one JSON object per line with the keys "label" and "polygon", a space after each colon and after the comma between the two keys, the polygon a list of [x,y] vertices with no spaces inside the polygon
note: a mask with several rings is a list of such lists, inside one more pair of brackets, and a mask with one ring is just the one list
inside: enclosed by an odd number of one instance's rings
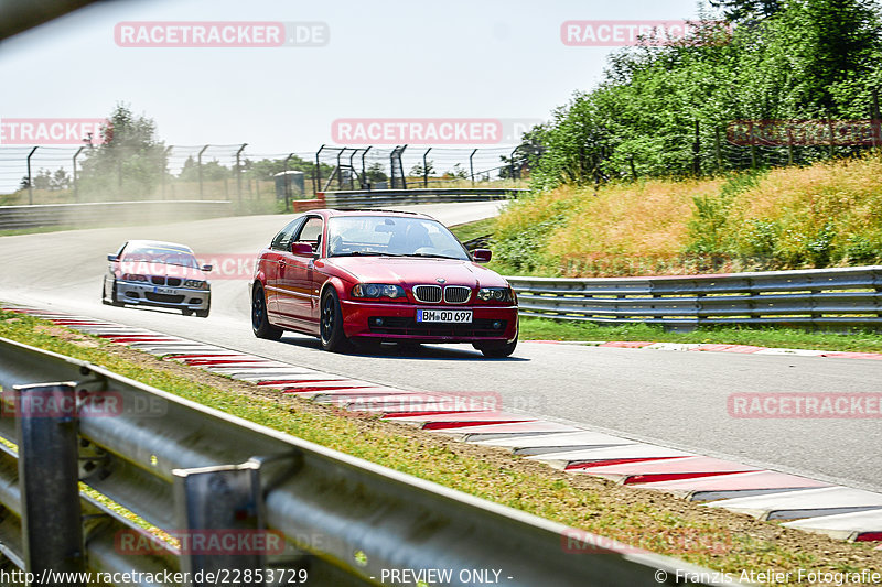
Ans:
{"label": "grey metal guardrail right of the red BMW, below grassy slope", "polygon": [[506,278],[520,314],[596,323],[882,326],[882,267],[660,278]]}

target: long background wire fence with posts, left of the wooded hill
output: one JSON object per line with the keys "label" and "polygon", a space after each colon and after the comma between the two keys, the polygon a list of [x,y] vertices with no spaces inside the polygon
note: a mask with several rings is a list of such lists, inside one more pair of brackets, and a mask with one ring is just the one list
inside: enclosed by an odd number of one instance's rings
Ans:
{"label": "long background wire fence with posts, left of the wooded hill", "polygon": [[316,192],[521,185],[514,146],[340,148],[262,153],[247,144],[0,148],[0,204],[230,200],[276,211]]}

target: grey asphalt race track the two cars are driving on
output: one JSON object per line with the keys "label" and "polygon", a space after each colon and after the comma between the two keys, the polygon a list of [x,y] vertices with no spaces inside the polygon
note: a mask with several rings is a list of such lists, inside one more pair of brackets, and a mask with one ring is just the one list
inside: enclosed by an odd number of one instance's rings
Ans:
{"label": "grey asphalt race track the two cars are driving on", "polygon": [[[412,206],[448,225],[496,214],[498,203]],[[405,209],[405,208],[402,208]],[[332,355],[318,341],[254,337],[246,281],[212,282],[212,316],[104,306],[106,254],[122,241],[190,244],[197,254],[256,253],[282,216],[0,238],[0,301],[105,318],[377,383],[421,391],[497,392],[508,409],[765,468],[882,491],[880,420],[742,420],[732,393],[880,392],[882,361],[677,352],[521,343],[510,359],[471,346]]]}

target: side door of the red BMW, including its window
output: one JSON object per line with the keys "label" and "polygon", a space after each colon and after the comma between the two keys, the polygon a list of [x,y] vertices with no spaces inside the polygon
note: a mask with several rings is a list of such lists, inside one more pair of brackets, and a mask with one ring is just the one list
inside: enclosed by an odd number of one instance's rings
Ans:
{"label": "side door of the red BMW, including its window", "polygon": [[[319,251],[323,228],[324,221],[321,216],[308,216],[291,244],[306,242],[313,251]],[[314,256],[293,254],[290,246],[284,258],[279,262],[279,314],[286,319],[300,323],[301,326],[313,322],[311,319],[312,309],[316,304],[315,294],[312,291],[314,262]]]}

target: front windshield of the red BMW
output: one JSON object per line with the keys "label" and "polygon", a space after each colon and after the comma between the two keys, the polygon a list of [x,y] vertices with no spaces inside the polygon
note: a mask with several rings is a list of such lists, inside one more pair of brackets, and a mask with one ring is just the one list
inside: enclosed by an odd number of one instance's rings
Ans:
{"label": "front windshield of the red BMW", "polygon": [[441,222],[390,216],[338,216],[327,226],[327,256],[388,254],[469,259]]}

